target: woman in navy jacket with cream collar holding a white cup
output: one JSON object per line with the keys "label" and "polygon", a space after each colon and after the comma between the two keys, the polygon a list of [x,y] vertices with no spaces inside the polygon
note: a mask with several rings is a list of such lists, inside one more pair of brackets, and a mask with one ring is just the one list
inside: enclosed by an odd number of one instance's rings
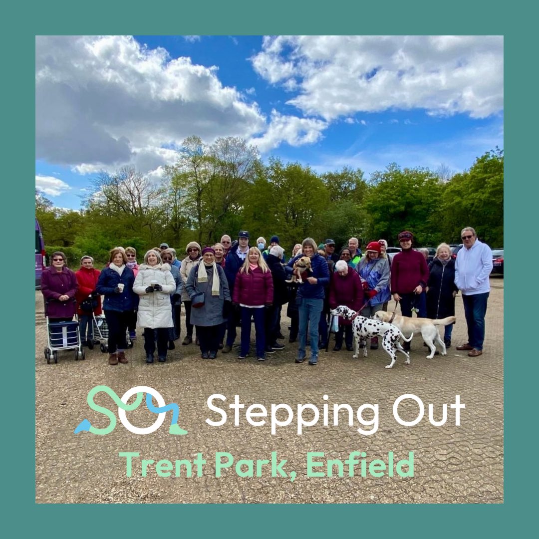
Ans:
{"label": "woman in navy jacket with cream collar holding a white cup", "polygon": [[108,364],[127,363],[126,333],[129,315],[135,308],[133,283],[135,274],[127,267],[126,252],[115,247],[110,250],[108,266],[101,270],[96,288],[105,296],[103,311],[108,325]]}

